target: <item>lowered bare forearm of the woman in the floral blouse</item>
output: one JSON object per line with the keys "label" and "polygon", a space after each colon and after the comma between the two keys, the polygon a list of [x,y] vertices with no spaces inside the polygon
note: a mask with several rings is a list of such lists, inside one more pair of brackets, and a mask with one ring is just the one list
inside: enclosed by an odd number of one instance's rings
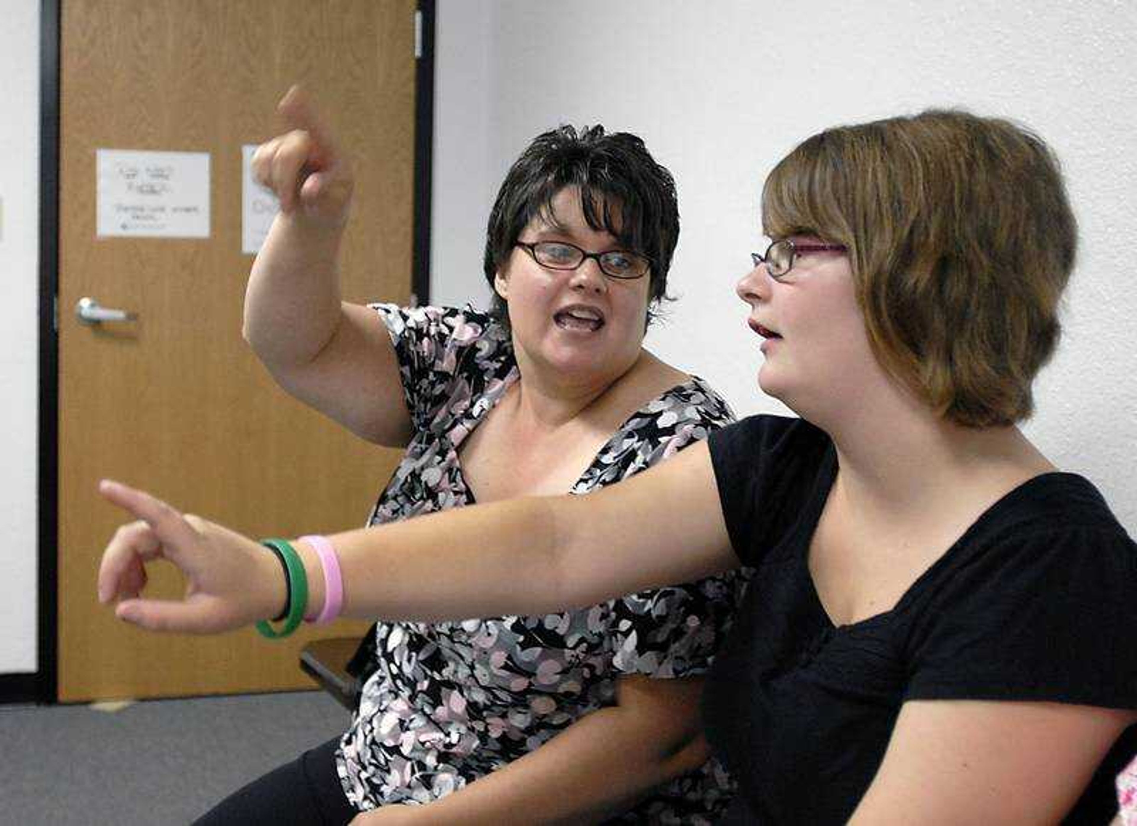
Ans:
{"label": "lowered bare forearm of the woman in the floral blouse", "polygon": [[707,757],[697,732],[661,736],[655,718],[619,707],[601,709],[520,760],[425,807],[421,821],[594,824],[629,809]]}

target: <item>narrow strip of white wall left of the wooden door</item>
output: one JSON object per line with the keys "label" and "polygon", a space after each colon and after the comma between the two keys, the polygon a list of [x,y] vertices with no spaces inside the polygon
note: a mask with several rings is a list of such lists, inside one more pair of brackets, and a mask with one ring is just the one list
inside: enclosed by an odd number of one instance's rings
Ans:
{"label": "narrow strip of white wall left of the wooden door", "polygon": [[0,674],[36,669],[40,2],[0,26]]}

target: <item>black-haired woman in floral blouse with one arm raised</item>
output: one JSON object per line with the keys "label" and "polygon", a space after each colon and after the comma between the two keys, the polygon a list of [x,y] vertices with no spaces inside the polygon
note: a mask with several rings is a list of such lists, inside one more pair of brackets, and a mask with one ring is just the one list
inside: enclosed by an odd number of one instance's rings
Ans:
{"label": "black-haired woman in floral blouse with one arm raised", "polygon": [[[370,524],[584,494],[732,421],[702,379],[642,347],[679,213],[639,138],[562,126],[529,146],[489,222],[490,313],[357,306],[338,287],[347,163],[298,90],[280,108],[291,129],[254,160],[281,214],[244,334],[297,398],[405,448]],[[377,623],[355,658],[348,732],[204,823],[310,820],[294,798],[308,780],[329,823],[368,809],[383,823],[709,821],[729,788],[695,699],[740,587],[729,575],[576,611]]]}

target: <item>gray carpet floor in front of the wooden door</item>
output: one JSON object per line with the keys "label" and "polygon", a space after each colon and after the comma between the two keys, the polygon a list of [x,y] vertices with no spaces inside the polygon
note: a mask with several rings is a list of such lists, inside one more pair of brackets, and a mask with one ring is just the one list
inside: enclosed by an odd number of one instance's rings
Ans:
{"label": "gray carpet floor in front of the wooden door", "polygon": [[188,824],[348,721],[323,692],[0,705],[0,825]]}

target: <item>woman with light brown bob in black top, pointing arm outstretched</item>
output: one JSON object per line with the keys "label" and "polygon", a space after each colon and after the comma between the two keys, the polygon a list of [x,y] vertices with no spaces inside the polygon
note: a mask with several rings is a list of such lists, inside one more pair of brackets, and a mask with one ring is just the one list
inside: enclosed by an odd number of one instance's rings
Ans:
{"label": "woman with light brown bob in black top, pointing arm outstretched", "polygon": [[[348,612],[547,610],[753,565],[703,700],[739,783],[727,823],[1107,821],[1137,749],[1137,651],[1112,642],[1137,638],[1137,546],[1016,427],[1074,261],[1056,160],[961,111],[827,130],[770,175],[763,224],[737,289],[761,387],[800,419],[752,416],[587,497],[331,537]],[[109,544],[101,597],[131,596],[156,546],[194,588],[122,598],[121,618],[279,612],[288,584],[255,542],[102,493],[141,521]],[[455,545],[462,576],[437,581]]]}

